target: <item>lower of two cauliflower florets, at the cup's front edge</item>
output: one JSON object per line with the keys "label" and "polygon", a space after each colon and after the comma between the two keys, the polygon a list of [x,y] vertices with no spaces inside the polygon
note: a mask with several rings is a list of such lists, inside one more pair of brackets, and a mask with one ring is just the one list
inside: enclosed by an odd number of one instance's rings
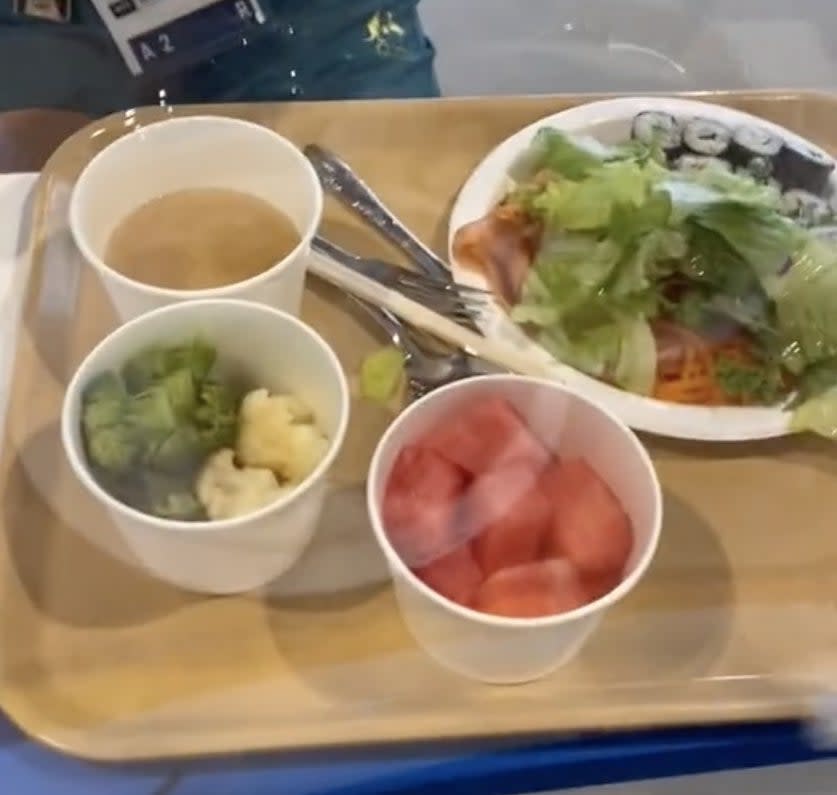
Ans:
{"label": "lower of two cauliflower florets, at the cup's front edge", "polygon": [[210,519],[253,513],[289,491],[269,469],[239,468],[234,456],[230,449],[219,450],[198,475],[195,491]]}

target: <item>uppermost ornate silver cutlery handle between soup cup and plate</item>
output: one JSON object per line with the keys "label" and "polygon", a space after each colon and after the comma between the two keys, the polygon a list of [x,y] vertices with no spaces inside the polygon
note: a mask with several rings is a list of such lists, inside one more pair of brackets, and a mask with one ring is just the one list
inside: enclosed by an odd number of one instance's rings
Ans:
{"label": "uppermost ornate silver cutlery handle between soup cup and plate", "polygon": [[453,283],[448,266],[398,220],[347,163],[317,144],[309,144],[304,151],[326,191],[400,248],[425,276]]}

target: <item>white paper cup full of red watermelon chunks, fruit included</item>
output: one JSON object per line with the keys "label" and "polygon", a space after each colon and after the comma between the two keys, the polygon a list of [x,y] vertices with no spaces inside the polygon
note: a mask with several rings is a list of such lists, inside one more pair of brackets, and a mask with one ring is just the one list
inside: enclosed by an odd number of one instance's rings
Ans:
{"label": "white paper cup full of red watermelon chunks, fruit included", "polygon": [[555,382],[516,375],[411,405],[375,450],[367,500],[418,644],[495,684],[574,657],[645,574],[662,522],[634,433]]}

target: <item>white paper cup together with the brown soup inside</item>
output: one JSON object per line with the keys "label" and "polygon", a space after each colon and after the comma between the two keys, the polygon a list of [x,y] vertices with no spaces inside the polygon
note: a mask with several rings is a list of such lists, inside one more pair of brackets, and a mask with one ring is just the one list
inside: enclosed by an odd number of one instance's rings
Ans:
{"label": "white paper cup together with the brown soup inside", "polygon": [[169,119],[102,150],[70,228],[123,321],[194,298],[298,314],[323,193],[307,158],[258,124]]}

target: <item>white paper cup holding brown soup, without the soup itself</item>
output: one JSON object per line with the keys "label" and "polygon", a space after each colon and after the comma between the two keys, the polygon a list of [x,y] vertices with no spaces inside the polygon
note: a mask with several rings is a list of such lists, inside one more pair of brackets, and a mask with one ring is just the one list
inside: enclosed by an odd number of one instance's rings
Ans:
{"label": "white paper cup holding brown soup, without the soup itself", "polygon": [[[154,198],[193,188],[229,188],[265,200],[293,222],[299,244],[257,276],[207,290],[154,287],[108,266],[105,248],[126,216]],[[123,321],[195,298],[244,298],[296,315],[322,208],[317,174],[290,141],[239,119],[193,116],[140,127],[96,155],[73,189],[70,229]]]}

